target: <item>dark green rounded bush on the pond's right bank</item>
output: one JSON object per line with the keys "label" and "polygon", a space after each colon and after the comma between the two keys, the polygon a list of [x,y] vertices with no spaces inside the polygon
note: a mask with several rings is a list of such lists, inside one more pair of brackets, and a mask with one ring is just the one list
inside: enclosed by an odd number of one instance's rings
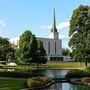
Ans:
{"label": "dark green rounded bush on the pond's right bank", "polygon": [[81,78],[85,76],[85,72],[78,69],[73,69],[67,72],[67,78]]}

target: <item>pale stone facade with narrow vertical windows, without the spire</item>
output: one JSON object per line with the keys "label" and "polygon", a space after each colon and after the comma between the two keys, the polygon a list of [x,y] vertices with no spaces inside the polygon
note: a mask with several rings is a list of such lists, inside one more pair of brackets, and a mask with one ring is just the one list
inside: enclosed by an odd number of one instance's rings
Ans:
{"label": "pale stone facade with narrow vertical windows, without the spire", "polygon": [[62,40],[50,38],[37,38],[37,40],[41,40],[43,42],[48,61],[51,61],[51,59],[55,59],[56,61],[61,59],[60,57],[62,55]]}

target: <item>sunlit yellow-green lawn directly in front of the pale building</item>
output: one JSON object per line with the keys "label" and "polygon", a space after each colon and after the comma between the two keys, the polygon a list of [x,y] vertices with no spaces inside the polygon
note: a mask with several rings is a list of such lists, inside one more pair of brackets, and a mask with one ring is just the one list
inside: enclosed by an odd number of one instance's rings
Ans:
{"label": "sunlit yellow-green lawn directly in front of the pale building", "polygon": [[80,62],[48,62],[42,65],[46,69],[84,69],[85,64]]}

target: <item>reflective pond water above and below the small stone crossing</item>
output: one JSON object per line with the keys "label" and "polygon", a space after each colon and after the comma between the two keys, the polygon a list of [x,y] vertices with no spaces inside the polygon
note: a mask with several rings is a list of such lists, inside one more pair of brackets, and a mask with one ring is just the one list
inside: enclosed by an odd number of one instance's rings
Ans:
{"label": "reflective pond water above and below the small stone crossing", "polygon": [[[69,70],[46,70],[43,73],[51,78],[63,78]],[[76,85],[70,83],[55,83],[44,90],[90,90],[85,85]]]}

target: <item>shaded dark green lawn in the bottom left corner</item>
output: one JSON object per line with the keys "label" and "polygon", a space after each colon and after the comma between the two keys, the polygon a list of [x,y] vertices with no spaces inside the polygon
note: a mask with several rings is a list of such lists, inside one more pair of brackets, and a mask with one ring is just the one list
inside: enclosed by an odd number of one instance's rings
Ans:
{"label": "shaded dark green lawn in the bottom left corner", "polygon": [[24,78],[0,77],[0,90],[20,90],[24,88]]}

